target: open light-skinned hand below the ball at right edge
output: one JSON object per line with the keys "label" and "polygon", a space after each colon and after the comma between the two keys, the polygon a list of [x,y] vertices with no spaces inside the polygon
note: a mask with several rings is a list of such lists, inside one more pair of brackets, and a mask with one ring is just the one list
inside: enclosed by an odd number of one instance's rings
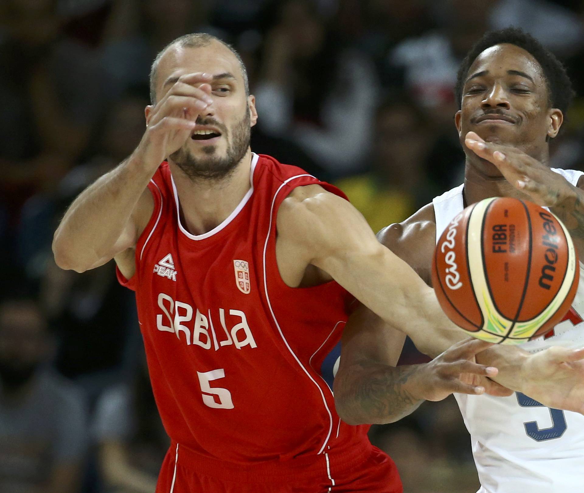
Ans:
{"label": "open light-skinned hand below the ball at right edge", "polygon": [[544,406],[584,414],[584,348],[552,346],[527,357],[522,392]]}

